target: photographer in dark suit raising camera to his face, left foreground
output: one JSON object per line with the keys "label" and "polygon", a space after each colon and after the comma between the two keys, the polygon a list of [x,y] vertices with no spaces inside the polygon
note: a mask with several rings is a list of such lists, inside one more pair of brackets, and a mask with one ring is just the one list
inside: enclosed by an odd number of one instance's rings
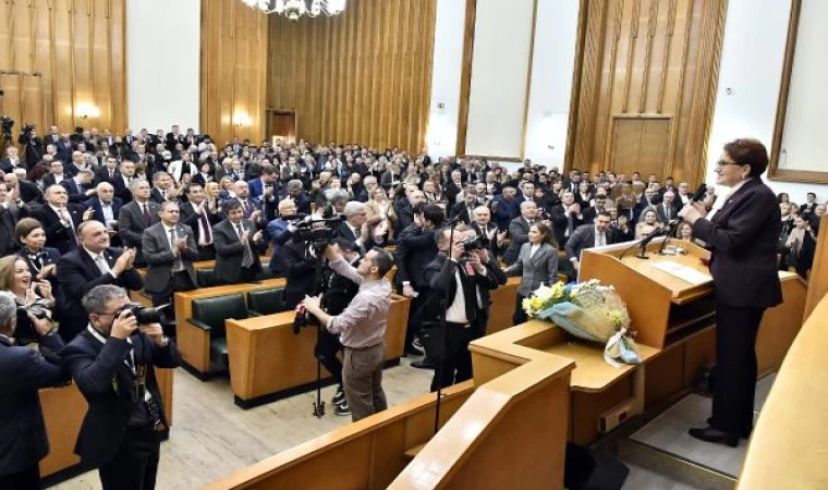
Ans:
{"label": "photographer in dark suit raising camera to his face, left foreground", "polygon": [[83,305],[88,323],[62,353],[89,404],[75,453],[98,468],[104,490],[153,489],[160,452],[157,429],[168,426],[155,368],[178,367],[178,348],[160,323],[139,322],[143,315],[122,287],[96,286]]}

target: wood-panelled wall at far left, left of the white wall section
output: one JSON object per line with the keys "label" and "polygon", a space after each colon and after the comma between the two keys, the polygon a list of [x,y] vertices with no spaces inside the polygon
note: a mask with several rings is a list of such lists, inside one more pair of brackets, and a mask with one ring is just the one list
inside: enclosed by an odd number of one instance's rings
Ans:
{"label": "wood-panelled wall at far left, left of the white wall section", "polygon": [[[44,135],[51,124],[126,126],[125,0],[0,2],[0,113]],[[80,105],[100,115],[82,119]]]}

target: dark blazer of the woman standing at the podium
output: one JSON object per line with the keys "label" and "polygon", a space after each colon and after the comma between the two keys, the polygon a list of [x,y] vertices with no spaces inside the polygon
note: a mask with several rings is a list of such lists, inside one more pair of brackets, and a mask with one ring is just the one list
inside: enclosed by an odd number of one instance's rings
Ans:
{"label": "dark blazer of the woman standing at the podium", "polygon": [[759,177],[745,182],[711,220],[695,222],[693,236],[713,249],[710,272],[719,305],[768,308],[782,303],[780,229],[779,203]]}

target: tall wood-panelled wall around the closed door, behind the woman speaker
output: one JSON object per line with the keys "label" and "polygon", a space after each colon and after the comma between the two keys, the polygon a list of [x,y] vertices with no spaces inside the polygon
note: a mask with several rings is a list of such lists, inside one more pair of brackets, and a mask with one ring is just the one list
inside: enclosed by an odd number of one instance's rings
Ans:
{"label": "tall wood-panelled wall around the closed door, behind the woman speaker", "polygon": [[614,144],[616,118],[667,118],[658,137],[650,135],[662,147],[648,155],[665,155],[656,173],[696,185],[705,175],[727,0],[586,0],[584,8],[565,167],[610,170],[619,156],[637,154]]}

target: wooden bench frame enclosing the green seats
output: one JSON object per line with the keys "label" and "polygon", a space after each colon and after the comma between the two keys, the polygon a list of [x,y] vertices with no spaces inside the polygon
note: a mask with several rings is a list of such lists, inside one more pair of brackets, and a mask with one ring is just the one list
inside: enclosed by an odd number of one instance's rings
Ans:
{"label": "wooden bench frame enclosing the green seats", "polygon": [[[245,294],[253,290],[283,287],[284,279],[267,279],[256,283],[230,284],[215,287],[200,287],[193,291],[175,293],[176,342],[182,359],[196,371],[206,375],[210,370],[210,335],[194,327],[188,318],[193,318],[193,299],[223,296],[227,294]],[[246,297],[245,297],[246,301]]]}

